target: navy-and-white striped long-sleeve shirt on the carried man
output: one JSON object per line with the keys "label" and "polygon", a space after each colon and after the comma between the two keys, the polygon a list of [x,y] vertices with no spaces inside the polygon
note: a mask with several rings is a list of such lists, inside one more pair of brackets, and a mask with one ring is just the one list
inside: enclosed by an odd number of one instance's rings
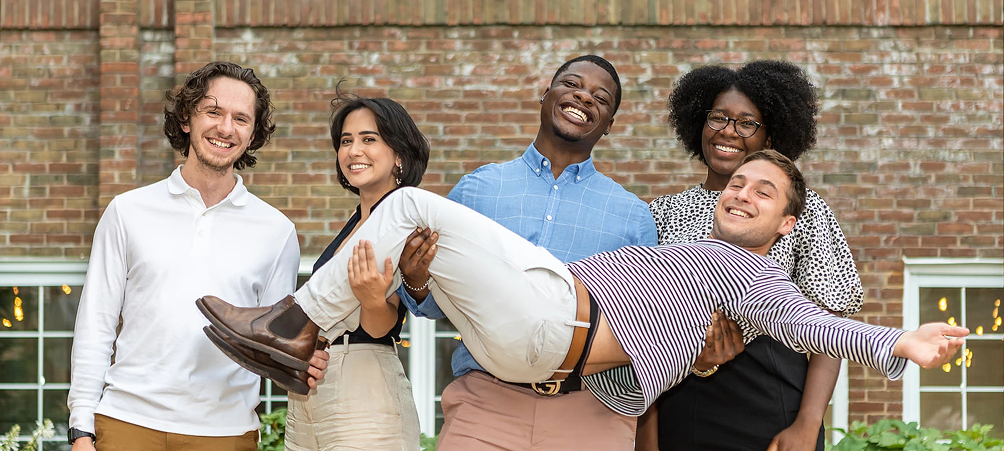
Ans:
{"label": "navy-and-white striped long-sleeve shirt on the carried man", "polygon": [[690,374],[711,314],[722,309],[748,342],[769,335],[799,352],[902,376],[903,334],[834,317],[806,300],[776,263],[713,240],[628,247],[568,264],[606,316],[632,365],[583,378],[610,409],[638,416]]}

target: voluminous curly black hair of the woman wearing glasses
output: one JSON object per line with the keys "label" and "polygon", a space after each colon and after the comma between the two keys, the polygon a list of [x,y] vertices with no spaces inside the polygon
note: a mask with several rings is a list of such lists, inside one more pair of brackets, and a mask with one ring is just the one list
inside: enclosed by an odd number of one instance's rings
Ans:
{"label": "voluminous curly black hair of the woman wearing glasses", "polygon": [[723,66],[694,69],[677,80],[670,94],[670,125],[687,152],[707,164],[701,151],[701,134],[715,99],[736,88],[756,105],[763,118],[771,148],[791,158],[815,145],[815,87],[798,66],[787,61],[762,60],[739,70]]}

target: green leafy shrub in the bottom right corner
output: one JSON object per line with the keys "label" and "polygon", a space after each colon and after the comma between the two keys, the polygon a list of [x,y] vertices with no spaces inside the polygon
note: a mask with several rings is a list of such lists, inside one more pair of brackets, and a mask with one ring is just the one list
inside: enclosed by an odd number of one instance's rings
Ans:
{"label": "green leafy shrub in the bottom right corner", "polygon": [[827,451],[1004,451],[1004,441],[988,436],[993,425],[975,424],[968,431],[944,432],[916,422],[880,420],[868,426],[855,421]]}

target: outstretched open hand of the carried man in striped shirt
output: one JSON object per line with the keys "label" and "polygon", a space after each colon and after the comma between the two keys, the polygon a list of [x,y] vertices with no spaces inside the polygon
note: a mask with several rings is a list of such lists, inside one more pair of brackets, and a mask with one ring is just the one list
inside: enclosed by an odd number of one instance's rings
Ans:
{"label": "outstretched open hand of the carried man in striped shirt", "polygon": [[893,355],[910,359],[922,368],[940,367],[952,360],[966,343],[962,338],[967,335],[966,328],[928,323],[901,335],[893,347]]}

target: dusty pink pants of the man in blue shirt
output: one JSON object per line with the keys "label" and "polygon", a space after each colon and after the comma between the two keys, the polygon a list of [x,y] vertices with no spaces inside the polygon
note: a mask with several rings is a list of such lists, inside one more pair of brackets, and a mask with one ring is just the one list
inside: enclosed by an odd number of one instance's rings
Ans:
{"label": "dusty pink pants of the man in blue shirt", "polygon": [[443,391],[437,451],[635,449],[637,418],[608,409],[588,390],[540,396],[472,371]]}

